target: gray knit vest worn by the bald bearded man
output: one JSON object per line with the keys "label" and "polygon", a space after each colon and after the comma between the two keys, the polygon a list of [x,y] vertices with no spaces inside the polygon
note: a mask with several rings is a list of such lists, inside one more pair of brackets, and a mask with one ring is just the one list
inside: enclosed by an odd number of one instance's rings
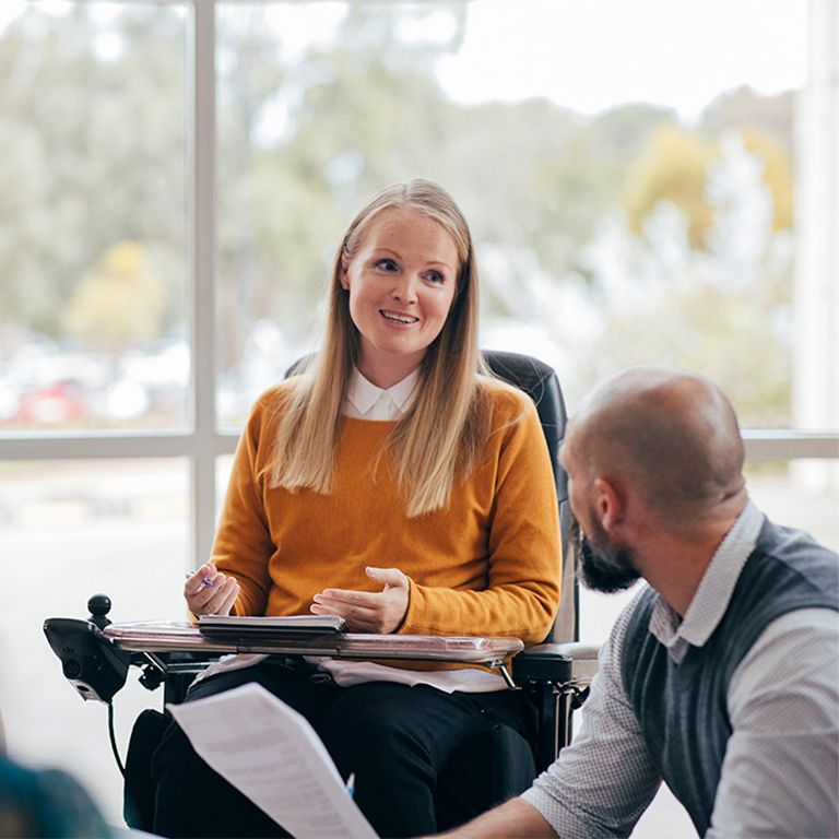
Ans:
{"label": "gray knit vest worn by the bald bearded man", "polygon": [[839,556],[806,533],[765,521],[722,621],[680,664],[649,631],[655,598],[647,591],[629,619],[621,674],[662,778],[704,836],[731,735],[729,681],[775,618],[839,608]]}

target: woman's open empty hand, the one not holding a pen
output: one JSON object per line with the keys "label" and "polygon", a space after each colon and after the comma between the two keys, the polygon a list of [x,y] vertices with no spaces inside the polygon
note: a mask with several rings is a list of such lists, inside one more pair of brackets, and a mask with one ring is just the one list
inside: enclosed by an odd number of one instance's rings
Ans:
{"label": "woman's open empty hand, the one not holding a pen", "polygon": [[407,613],[409,583],[399,568],[365,568],[381,591],[324,589],[310,607],[316,615],[340,615],[353,629],[387,635],[395,633]]}

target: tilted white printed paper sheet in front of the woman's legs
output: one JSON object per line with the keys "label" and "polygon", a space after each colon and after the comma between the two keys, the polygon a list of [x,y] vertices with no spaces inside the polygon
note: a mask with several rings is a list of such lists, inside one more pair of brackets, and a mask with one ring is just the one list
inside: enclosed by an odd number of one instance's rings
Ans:
{"label": "tilted white printed paper sheet in front of the woman's legs", "polygon": [[375,839],[320,737],[264,687],[167,706],[218,775],[298,839]]}

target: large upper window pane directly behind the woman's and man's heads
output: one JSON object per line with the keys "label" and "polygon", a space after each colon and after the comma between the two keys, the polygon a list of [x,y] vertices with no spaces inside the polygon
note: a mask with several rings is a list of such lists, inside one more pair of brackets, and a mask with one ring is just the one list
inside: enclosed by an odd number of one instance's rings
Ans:
{"label": "large upper window pane directly behind the woman's and man's heads", "polygon": [[485,344],[554,363],[571,402],[657,359],[794,427],[806,10],[735,50],[768,10],[671,7],[218,3],[222,422],[309,348],[347,215],[420,174],[471,221]]}

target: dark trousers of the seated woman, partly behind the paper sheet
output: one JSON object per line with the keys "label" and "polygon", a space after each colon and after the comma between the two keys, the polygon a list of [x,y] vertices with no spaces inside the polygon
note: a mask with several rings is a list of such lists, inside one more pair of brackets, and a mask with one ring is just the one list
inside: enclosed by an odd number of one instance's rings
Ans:
{"label": "dark trousers of the seated woman, partly behind the paper sheet", "polygon": [[[518,690],[446,694],[389,682],[338,687],[291,659],[211,676],[190,688],[186,701],[248,682],[258,682],[309,720],[342,777],[355,773],[355,801],[381,837],[438,831],[437,781],[468,737],[497,723],[531,743],[535,736],[533,707]],[[154,753],[152,773],[155,834],[287,836],[194,753],[175,722]],[[463,812],[470,810],[466,802]],[[476,807],[472,814],[480,812]]]}

